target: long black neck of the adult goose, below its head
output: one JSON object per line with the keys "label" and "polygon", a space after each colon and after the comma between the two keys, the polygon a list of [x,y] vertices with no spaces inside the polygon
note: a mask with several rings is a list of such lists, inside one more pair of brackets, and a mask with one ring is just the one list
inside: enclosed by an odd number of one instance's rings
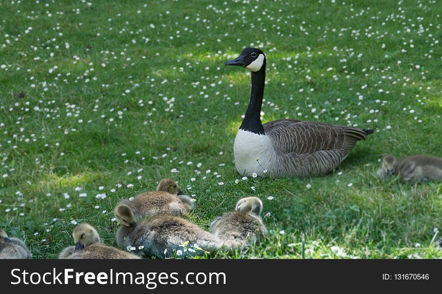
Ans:
{"label": "long black neck of the adult goose, below its head", "polygon": [[257,72],[252,72],[252,96],[249,107],[240,129],[255,134],[263,135],[264,127],[261,123],[261,105],[264,96],[266,80],[266,65],[264,64]]}

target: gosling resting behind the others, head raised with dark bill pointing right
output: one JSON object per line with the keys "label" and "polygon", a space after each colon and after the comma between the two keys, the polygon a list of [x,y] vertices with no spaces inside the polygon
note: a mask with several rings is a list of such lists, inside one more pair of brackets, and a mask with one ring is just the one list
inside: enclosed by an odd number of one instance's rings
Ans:
{"label": "gosling resting behind the others, head raised with dark bill pointing right", "polygon": [[184,195],[172,179],[162,179],[156,191],[144,192],[133,200],[123,199],[119,204],[128,205],[135,218],[151,217],[157,214],[184,216],[193,209],[192,199]]}

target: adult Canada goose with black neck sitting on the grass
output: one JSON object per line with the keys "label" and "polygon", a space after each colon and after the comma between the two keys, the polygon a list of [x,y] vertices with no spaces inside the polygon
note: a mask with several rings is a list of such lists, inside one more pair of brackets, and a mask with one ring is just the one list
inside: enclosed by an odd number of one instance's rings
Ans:
{"label": "adult Canada goose with black neck sitting on the grass", "polygon": [[320,122],[280,119],[261,123],[266,78],[266,57],[255,48],[244,49],[226,65],[252,72],[252,95],[235,144],[235,165],[240,174],[308,177],[332,171],[352,147],[373,130]]}

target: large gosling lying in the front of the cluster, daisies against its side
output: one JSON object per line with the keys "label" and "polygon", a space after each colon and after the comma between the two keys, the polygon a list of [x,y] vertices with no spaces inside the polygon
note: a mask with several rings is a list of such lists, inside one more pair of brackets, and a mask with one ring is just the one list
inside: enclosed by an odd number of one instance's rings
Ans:
{"label": "large gosling lying in the front of the cluster, daisies against its side", "polygon": [[120,204],[114,212],[121,225],[118,245],[139,249],[138,254],[159,258],[201,256],[222,245],[218,238],[180,217],[156,215],[137,224],[129,206]]}

